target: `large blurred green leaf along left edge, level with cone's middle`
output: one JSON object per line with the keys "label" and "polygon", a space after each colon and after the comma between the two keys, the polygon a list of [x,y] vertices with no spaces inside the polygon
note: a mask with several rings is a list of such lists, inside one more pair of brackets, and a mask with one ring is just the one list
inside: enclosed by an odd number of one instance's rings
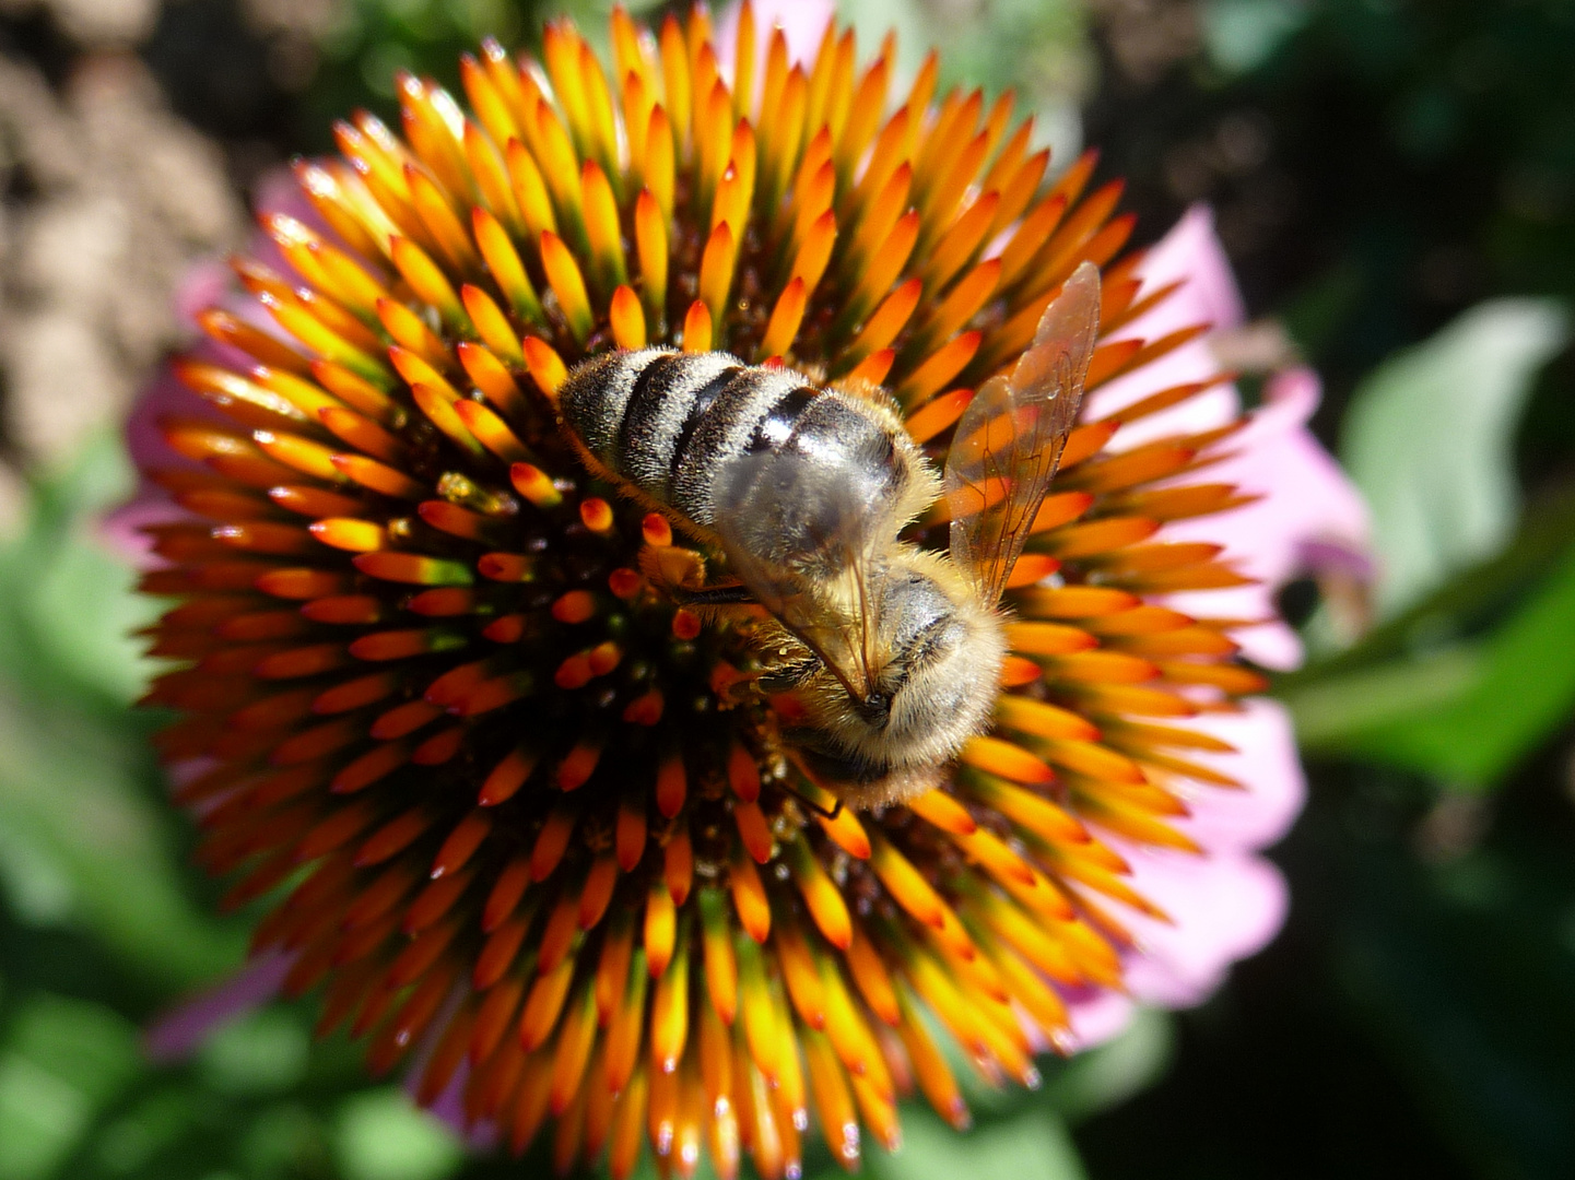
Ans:
{"label": "large blurred green leaf along left edge, level with cone's middle", "polygon": [[131,629],[158,605],[99,526],[129,487],[99,438],[35,487],[25,534],[0,548],[0,882],[22,917],[87,926],[180,988],[238,963],[243,934],[186,895],[150,718],[128,711],[151,666]]}

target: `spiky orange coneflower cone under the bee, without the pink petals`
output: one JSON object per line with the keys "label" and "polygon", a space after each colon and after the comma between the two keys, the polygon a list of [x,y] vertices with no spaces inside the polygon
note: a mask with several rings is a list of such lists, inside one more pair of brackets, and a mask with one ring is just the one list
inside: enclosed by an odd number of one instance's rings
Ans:
{"label": "spiky orange coneflower cone under the bee, without the pink petals", "polygon": [[[835,25],[795,65],[748,6],[731,82],[704,11],[611,32],[611,77],[565,22],[540,65],[484,46],[468,112],[402,77],[402,134],[339,124],[296,169],[313,213],[261,217],[250,306],[175,364],[206,410],[143,458],[184,512],[148,526],[184,665],[150,701],[184,714],[161,742],[202,862],[268,901],[257,980],[321,985],[373,1071],[422,1046],[422,1101],[515,1150],[545,1130],[561,1167],[627,1175],[649,1141],[794,1174],[811,1114],[852,1166],[915,1087],[967,1122],[937,1035],[1032,1085],[1068,997],[1118,993],[1167,918],[1134,857],[1206,852],[1186,800],[1254,789],[1213,726],[1254,725],[1232,633],[1263,618],[1170,605],[1249,578],[1164,534],[1252,499],[1208,471],[1247,419],[1211,366],[1164,377],[1205,323],[1132,336],[1175,284],[1121,254],[1091,156],[1046,183],[1010,96],[937,96],[934,57],[891,95],[891,47]],[[554,394],[608,348],[780,358],[885,386],[939,466],[1085,260],[1102,342],[994,729],[907,805],[825,807],[762,654],[646,577],[688,542],[586,473]],[[1153,432],[1203,402],[1228,413]]]}

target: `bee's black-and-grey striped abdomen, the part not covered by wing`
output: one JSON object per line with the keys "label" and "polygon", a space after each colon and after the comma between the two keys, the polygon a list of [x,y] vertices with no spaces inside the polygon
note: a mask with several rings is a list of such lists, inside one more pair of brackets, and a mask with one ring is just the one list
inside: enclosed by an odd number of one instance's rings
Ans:
{"label": "bee's black-and-grey striped abdomen, the part not covered by wing", "polygon": [[767,488],[753,473],[767,455],[797,452],[802,463],[778,471],[835,473],[832,484],[852,481],[854,496],[868,504],[901,504],[915,482],[910,446],[899,452],[880,410],[729,353],[597,356],[569,375],[559,406],[610,471],[707,529],[718,512],[764,506]]}

